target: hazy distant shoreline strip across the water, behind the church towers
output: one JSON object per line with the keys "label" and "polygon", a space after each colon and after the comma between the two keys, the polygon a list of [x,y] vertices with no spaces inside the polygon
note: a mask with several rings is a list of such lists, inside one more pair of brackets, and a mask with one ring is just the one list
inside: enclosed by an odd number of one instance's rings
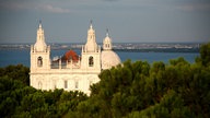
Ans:
{"label": "hazy distant shoreline strip across the water, behind the church towers", "polygon": [[[49,44],[51,50],[81,50],[84,44]],[[100,44],[101,47],[102,44]],[[199,43],[115,43],[113,50],[130,52],[199,52]],[[30,50],[31,44],[0,44],[0,50]]]}

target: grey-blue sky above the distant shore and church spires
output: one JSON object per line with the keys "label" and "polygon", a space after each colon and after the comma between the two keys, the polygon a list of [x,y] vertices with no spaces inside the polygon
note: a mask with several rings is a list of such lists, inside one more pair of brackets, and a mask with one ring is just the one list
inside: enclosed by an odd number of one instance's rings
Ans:
{"label": "grey-blue sky above the distant shore and church spires", "polygon": [[0,44],[85,43],[90,21],[102,43],[210,42],[210,0],[0,0]]}

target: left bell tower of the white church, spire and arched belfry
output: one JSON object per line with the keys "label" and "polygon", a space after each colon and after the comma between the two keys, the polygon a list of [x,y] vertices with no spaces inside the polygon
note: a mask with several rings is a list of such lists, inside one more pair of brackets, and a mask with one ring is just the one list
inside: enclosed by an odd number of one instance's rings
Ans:
{"label": "left bell tower of the white church, spire and arched belfry", "polygon": [[50,68],[50,46],[45,43],[44,30],[42,22],[39,21],[39,26],[36,35],[35,45],[31,46],[31,73],[35,70],[44,70]]}

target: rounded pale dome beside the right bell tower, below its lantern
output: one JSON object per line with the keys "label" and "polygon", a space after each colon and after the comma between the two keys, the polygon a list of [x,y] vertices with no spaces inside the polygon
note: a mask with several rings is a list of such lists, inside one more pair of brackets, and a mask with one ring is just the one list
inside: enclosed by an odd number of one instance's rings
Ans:
{"label": "rounded pale dome beside the right bell tower, below its lantern", "polygon": [[120,59],[113,50],[102,51],[102,69],[110,69],[120,63]]}

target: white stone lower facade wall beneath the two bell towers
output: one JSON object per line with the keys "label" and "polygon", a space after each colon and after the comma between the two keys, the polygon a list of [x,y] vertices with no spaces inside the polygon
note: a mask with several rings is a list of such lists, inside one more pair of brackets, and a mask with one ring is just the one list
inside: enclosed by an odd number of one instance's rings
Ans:
{"label": "white stone lower facade wall beneath the two bell towers", "polygon": [[90,94],[90,85],[98,81],[97,73],[31,73],[31,85],[46,91],[63,88],[65,91],[82,91]]}

